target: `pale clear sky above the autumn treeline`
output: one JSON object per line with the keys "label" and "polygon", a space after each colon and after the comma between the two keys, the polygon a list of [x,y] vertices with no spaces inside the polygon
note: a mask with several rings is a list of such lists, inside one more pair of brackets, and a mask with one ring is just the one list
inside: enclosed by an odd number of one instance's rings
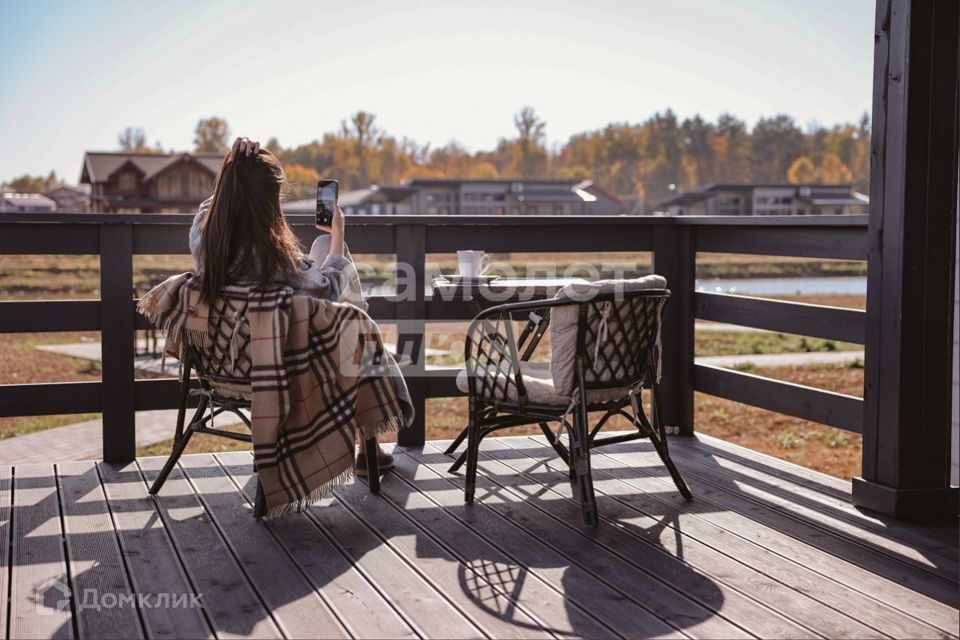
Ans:
{"label": "pale clear sky above the autumn treeline", "polygon": [[0,0],[0,182],[125,127],[189,150],[201,117],[292,146],[351,113],[492,148],[530,105],[551,142],[672,108],[854,121],[873,0]]}

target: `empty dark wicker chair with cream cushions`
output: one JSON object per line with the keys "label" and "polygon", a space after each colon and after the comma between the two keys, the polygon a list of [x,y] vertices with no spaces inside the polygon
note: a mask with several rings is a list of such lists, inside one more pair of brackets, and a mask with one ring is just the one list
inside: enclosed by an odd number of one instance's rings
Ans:
{"label": "empty dark wicker chair with cream cushions", "polygon": [[[647,438],[670,472],[680,493],[691,494],[667,450],[666,429],[660,411],[659,323],[670,292],[666,289],[600,293],[590,300],[553,299],[505,304],[480,313],[467,331],[467,366],[459,386],[467,387],[470,419],[467,450],[454,464],[466,460],[465,500],[472,502],[476,486],[480,441],[487,434],[537,424],[570,469],[583,509],[584,522],[598,522],[590,472],[591,447]],[[568,318],[576,331],[572,389],[558,390],[550,363],[531,362],[530,349],[519,355],[512,318],[553,315]],[[521,340],[522,342],[522,340]],[[557,345],[553,344],[557,357]],[[464,385],[464,379],[466,384]],[[641,389],[651,393],[651,417],[640,401]],[[588,413],[603,412],[590,429]],[[568,416],[572,415],[572,421]],[[613,416],[630,420],[636,432],[598,438]],[[559,423],[555,434],[549,423]],[[569,448],[560,433],[569,434]]]}

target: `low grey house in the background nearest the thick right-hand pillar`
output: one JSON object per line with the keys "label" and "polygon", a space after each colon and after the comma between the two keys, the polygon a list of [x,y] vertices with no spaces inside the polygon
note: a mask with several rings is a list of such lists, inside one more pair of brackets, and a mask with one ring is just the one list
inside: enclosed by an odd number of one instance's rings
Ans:
{"label": "low grey house in the background nearest the thick right-hand pillar", "polygon": [[671,215],[866,214],[870,198],[851,184],[711,184],[657,205]]}

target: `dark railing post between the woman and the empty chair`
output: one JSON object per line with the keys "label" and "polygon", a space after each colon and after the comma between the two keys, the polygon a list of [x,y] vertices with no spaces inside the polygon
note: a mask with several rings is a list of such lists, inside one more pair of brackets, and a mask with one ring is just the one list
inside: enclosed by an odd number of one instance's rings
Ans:
{"label": "dark railing post between the woman and the empty chair", "polygon": [[[398,292],[402,297],[397,301],[397,350],[413,359],[413,363],[403,370],[403,375],[416,412],[413,425],[400,432],[397,442],[409,447],[421,445],[426,440],[426,227],[422,224],[397,225],[395,233],[398,273],[413,275],[413,282],[407,283],[413,291]],[[401,266],[405,271],[399,270]]]}

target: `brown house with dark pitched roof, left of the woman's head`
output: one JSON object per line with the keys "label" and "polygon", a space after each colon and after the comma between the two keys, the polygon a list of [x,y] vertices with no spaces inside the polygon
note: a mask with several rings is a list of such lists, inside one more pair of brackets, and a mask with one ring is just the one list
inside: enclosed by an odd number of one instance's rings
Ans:
{"label": "brown house with dark pitched roof, left of the woman's head", "polygon": [[193,213],[210,195],[223,156],[87,152],[81,184],[99,213]]}

